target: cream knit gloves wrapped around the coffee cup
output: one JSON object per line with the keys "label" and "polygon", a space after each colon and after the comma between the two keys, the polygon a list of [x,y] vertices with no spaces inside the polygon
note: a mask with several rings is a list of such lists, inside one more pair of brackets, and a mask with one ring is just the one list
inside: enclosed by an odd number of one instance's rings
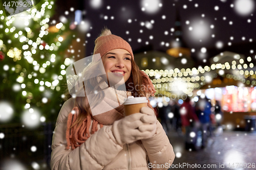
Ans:
{"label": "cream knit gloves wrapped around the coffee cup", "polygon": [[116,120],[112,131],[118,144],[132,143],[152,137],[156,132],[156,120],[152,115],[135,113]]}

